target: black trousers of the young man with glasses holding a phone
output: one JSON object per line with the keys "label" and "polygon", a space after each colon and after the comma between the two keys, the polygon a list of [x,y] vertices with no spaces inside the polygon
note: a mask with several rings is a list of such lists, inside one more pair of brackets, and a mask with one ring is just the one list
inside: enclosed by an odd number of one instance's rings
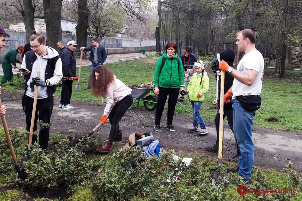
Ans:
{"label": "black trousers of the young man with glasses holding a phone", "polygon": [[[27,95],[23,95],[22,97],[22,107],[25,112],[25,121],[26,121],[26,129],[29,132],[31,129],[31,115],[33,112],[34,98],[29,97]],[[38,99],[36,106],[36,114],[34,121],[34,132],[37,130],[37,119],[43,123],[50,123],[50,116],[53,112],[53,97],[49,100],[48,98]],[[38,116],[39,115],[39,116]],[[47,150],[49,140],[49,128],[44,128],[40,130],[39,133],[39,145],[43,150]],[[33,135],[32,143],[37,142],[37,136]]]}

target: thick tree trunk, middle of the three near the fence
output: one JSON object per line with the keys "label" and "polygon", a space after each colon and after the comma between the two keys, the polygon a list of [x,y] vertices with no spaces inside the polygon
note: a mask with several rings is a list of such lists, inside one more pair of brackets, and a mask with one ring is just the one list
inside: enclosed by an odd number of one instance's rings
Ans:
{"label": "thick tree trunk, middle of the three near the fence", "polygon": [[46,24],[47,46],[59,50],[57,48],[57,43],[62,40],[62,0],[43,0],[43,7]]}

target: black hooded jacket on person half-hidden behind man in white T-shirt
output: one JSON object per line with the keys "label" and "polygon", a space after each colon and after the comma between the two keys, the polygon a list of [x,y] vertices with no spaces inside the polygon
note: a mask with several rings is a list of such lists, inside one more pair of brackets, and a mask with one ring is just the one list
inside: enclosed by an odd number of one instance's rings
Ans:
{"label": "black hooded jacket on person half-hidden behind man in white T-shirt", "polygon": [[[233,68],[233,62],[235,60],[235,52],[231,49],[226,49],[226,50],[220,52],[219,54],[220,54],[220,59],[227,62]],[[217,62],[218,62],[218,60],[217,60]],[[218,64],[217,70],[221,71],[219,69],[219,64]],[[233,85],[233,81],[234,81],[234,78],[232,77],[232,75],[230,75],[230,73],[228,73],[228,72],[225,72],[224,73],[224,93],[223,94],[226,94],[226,92],[231,88],[231,86]],[[218,89],[219,89],[218,93],[220,94],[220,79],[219,79],[219,83],[218,83]],[[220,96],[218,97],[218,103],[220,103]],[[224,110],[233,110],[232,102],[223,104],[223,109]]]}

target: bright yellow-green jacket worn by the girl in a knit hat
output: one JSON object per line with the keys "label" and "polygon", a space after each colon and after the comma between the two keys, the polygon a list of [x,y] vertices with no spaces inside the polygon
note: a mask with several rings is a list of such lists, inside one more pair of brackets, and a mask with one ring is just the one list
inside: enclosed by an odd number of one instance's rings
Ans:
{"label": "bright yellow-green jacket worn by the girl in a knit hat", "polygon": [[[202,78],[202,82],[200,84]],[[189,81],[187,91],[189,92],[189,99],[191,101],[203,101],[204,94],[209,91],[210,80],[207,72],[204,71],[204,75],[193,74],[191,80]],[[199,92],[200,97],[197,96]]]}

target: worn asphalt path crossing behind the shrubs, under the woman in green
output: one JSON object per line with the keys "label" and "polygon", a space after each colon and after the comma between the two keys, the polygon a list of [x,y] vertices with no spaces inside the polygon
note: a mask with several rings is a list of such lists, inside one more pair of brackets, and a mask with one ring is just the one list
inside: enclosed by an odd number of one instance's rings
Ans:
{"label": "worn asphalt path crossing behind the shrubs, under the woman in green", "polygon": [[[8,108],[5,117],[9,128],[25,127],[25,116],[21,105],[22,95],[12,91],[1,91],[2,104]],[[77,133],[87,133],[99,123],[105,106],[105,103],[97,104],[74,100],[71,101],[71,104],[75,107],[74,110],[63,110],[58,107],[59,98],[55,97],[50,132],[67,134],[69,130],[76,130]],[[198,136],[197,133],[187,132],[192,126],[191,117],[175,114],[173,124],[176,132],[173,133],[165,129],[166,114],[163,114],[163,132],[157,133],[153,130],[154,116],[155,111],[150,112],[144,108],[133,107],[128,110],[120,122],[120,128],[124,130],[124,139],[127,139],[133,132],[152,131],[155,139],[160,141],[164,149],[173,148],[189,155],[204,152],[204,155],[217,158],[217,154],[207,152],[204,149],[206,146],[213,145],[216,140],[216,128],[213,120],[205,120],[209,134]],[[236,152],[234,135],[226,124],[224,127],[223,160],[227,160]],[[110,124],[107,122],[95,132],[93,137],[99,139],[101,136],[107,136],[109,131]],[[255,143],[254,165],[282,170],[291,161],[296,170],[302,171],[301,132],[254,126],[252,137]],[[126,140],[124,142],[126,144]],[[102,144],[103,142],[100,141],[100,145]]]}

